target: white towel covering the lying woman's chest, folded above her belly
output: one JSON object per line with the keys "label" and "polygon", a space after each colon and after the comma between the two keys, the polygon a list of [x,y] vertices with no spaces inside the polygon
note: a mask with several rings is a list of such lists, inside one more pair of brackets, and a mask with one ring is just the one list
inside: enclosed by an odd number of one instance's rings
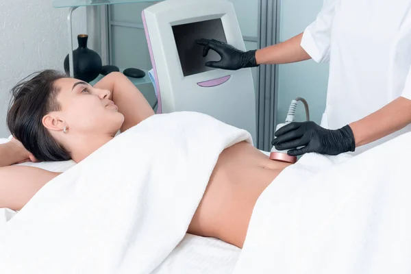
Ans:
{"label": "white towel covering the lying woman's chest, folded above her belly", "polygon": [[142,121],[8,221],[1,271],[155,271],[186,235],[219,154],[242,140],[252,142],[244,130],[194,112]]}

